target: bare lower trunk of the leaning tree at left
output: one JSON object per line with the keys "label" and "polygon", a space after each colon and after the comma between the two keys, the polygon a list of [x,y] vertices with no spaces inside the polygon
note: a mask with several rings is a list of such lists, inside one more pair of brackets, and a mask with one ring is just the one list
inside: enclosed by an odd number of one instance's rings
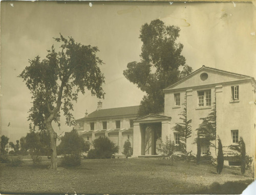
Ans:
{"label": "bare lower trunk of the leaning tree at left", "polygon": [[48,122],[46,124],[46,127],[50,134],[50,141],[51,141],[51,166],[50,166],[50,169],[56,169],[57,168],[57,147],[56,147],[57,133],[55,133],[52,128],[52,122]]}

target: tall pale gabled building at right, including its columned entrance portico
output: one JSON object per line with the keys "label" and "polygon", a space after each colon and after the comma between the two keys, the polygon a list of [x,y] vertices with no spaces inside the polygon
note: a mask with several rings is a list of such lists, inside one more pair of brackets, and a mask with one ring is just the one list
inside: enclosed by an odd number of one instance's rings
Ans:
{"label": "tall pale gabled building at right, including its columned entrance portico", "polygon": [[[242,136],[246,153],[255,156],[255,90],[254,78],[234,74],[210,67],[201,67],[189,76],[165,88],[164,113],[148,114],[134,120],[134,156],[145,155],[146,128],[152,129],[151,155],[157,154],[156,142],[159,137],[168,136],[179,143],[179,134],[174,126],[181,123],[180,113],[186,100],[187,118],[191,119],[191,137],[187,140],[187,151],[197,153],[194,143],[197,137],[200,118],[206,117],[216,105],[216,133],[220,137],[223,150],[230,154],[229,145],[238,145]],[[157,133],[159,132],[159,133]],[[202,146],[205,154],[209,145]],[[210,148],[216,156],[215,148]]]}

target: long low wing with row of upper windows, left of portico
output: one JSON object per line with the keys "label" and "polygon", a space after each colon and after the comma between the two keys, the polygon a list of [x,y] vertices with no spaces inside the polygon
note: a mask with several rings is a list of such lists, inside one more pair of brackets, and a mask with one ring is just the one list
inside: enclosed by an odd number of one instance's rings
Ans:
{"label": "long low wing with row of upper windows, left of portico", "polygon": [[89,143],[99,136],[109,137],[121,155],[126,140],[133,145],[133,120],[138,117],[138,109],[139,106],[102,109],[102,102],[98,102],[94,112],[76,120],[75,129]]}

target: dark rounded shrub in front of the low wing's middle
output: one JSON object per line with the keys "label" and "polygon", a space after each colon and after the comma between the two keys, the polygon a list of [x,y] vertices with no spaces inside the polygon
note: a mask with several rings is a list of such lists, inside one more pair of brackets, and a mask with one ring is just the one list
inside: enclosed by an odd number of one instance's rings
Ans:
{"label": "dark rounded shrub in front of the low wing's middle", "polygon": [[89,151],[88,158],[111,158],[118,152],[118,146],[106,136],[94,139],[92,144],[94,149]]}

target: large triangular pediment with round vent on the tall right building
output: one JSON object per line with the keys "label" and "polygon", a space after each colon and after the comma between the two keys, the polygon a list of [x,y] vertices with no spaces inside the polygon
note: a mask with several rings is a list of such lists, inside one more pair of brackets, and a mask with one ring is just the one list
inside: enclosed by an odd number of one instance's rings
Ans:
{"label": "large triangular pediment with round vent on the tall right building", "polygon": [[199,68],[198,70],[194,71],[184,79],[174,83],[173,85],[168,86],[164,89],[164,91],[170,89],[203,86],[216,83],[226,83],[244,80],[248,78],[250,79],[251,77],[203,66],[202,68]]}

